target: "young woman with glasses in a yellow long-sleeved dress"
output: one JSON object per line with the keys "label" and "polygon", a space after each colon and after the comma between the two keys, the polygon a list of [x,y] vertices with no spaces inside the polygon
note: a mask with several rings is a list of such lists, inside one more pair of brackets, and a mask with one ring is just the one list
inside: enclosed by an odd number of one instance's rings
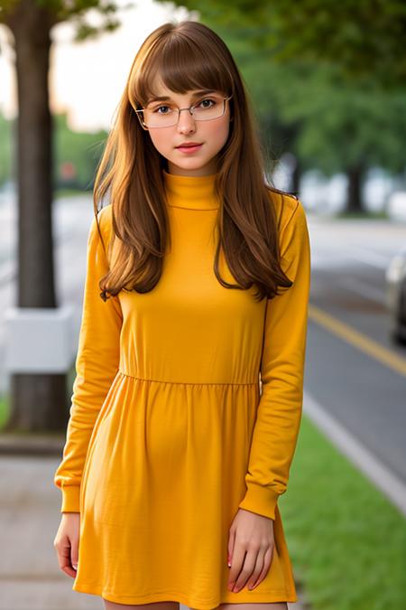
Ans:
{"label": "young woman with glasses in a yellow long-sleeved dress", "polygon": [[263,158],[225,43],[189,21],[152,32],[97,172],[54,479],[60,568],[106,608],[297,600],[277,501],[300,428],[309,234]]}

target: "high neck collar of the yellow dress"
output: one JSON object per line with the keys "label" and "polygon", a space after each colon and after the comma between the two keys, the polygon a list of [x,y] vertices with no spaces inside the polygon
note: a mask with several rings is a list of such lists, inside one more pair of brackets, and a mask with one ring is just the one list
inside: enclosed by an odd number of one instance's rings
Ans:
{"label": "high neck collar of the yellow dress", "polygon": [[186,176],[168,174],[162,169],[168,203],[171,207],[189,210],[217,210],[215,182],[217,174]]}

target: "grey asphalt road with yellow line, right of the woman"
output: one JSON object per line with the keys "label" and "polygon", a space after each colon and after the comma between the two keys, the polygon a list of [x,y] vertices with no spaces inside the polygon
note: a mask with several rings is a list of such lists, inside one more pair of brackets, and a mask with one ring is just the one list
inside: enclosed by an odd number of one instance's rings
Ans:
{"label": "grey asphalt road with yellow line, right of the woman", "polygon": [[305,388],[406,483],[406,347],[389,337],[385,269],[406,224],[309,219]]}

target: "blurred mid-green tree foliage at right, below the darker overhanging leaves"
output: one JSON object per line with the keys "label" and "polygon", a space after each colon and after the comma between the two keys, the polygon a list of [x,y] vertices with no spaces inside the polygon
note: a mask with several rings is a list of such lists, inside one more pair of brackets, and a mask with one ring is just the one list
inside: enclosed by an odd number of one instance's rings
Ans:
{"label": "blurred mid-green tree foliage at right, below the darker overhanging leaves", "polygon": [[371,82],[350,85],[328,65],[307,69],[298,64],[291,77],[289,89],[278,89],[278,98],[281,119],[300,124],[295,151],[300,159],[325,174],[359,162],[401,172],[406,89],[384,91]]}

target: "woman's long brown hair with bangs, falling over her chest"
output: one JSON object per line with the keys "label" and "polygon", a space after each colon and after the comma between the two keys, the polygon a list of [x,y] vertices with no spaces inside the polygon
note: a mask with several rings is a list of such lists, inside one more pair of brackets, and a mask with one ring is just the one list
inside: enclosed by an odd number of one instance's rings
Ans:
{"label": "woman's long brown hair with bangs, falling over her chest", "polygon": [[[255,286],[256,300],[272,298],[278,294],[278,286],[292,285],[280,266],[278,219],[272,205],[276,192],[282,200],[285,193],[266,183],[265,157],[254,114],[231,53],[217,33],[193,21],[164,23],[146,38],[135,55],[118,104],[93,193],[96,219],[98,203],[106,195],[112,205],[110,264],[99,282],[100,296],[106,300],[107,293],[116,296],[122,289],[138,293],[152,290],[161,277],[167,242],[171,242],[161,171],[166,159],[152,145],[134,112],[146,107],[153,97],[152,83],[157,75],[177,93],[216,89],[232,96],[233,120],[217,157],[215,188],[221,203],[214,272],[226,288]],[[220,277],[220,249],[237,284]]]}

